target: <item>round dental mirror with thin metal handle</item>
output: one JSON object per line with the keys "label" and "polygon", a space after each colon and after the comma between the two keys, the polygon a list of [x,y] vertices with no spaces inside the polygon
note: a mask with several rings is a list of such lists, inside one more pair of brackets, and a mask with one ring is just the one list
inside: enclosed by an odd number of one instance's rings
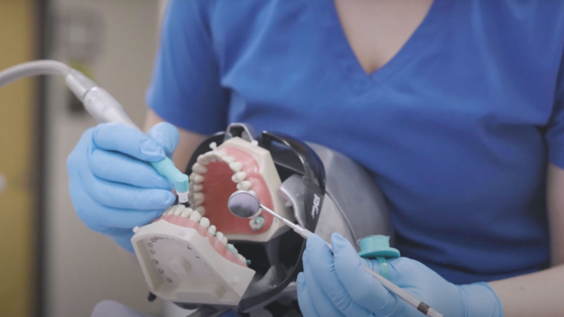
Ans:
{"label": "round dental mirror with thin metal handle", "polygon": [[[272,211],[267,206],[261,204],[261,202],[258,200],[258,197],[254,195],[252,192],[248,192],[248,191],[233,192],[229,197],[229,199],[227,200],[227,208],[229,208],[229,210],[233,215],[236,215],[237,217],[240,218],[252,218],[254,217],[254,215],[258,214],[262,209],[265,210],[265,212],[271,214],[276,219],[279,219],[288,227],[292,228],[292,230],[294,230],[298,235],[304,237],[305,239],[307,239],[307,237],[313,234],[313,232],[307,230],[306,228],[300,226],[299,224],[289,221],[288,219]],[[325,243],[327,244],[327,246],[329,246],[329,250],[331,250],[331,253],[333,253],[333,246],[327,241],[325,241]],[[367,266],[364,266],[364,268],[372,276],[374,276],[374,278],[380,281],[380,283],[382,283],[384,287],[389,289],[391,292],[395,293],[399,298],[402,298],[402,300],[406,301],[409,305],[415,307],[418,311],[422,312],[426,316],[444,317],[442,314],[432,309],[426,303],[418,300],[413,295],[409,294],[402,288],[398,287],[398,285],[395,285],[390,280],[384,278],[384,276],[374,272]]]}

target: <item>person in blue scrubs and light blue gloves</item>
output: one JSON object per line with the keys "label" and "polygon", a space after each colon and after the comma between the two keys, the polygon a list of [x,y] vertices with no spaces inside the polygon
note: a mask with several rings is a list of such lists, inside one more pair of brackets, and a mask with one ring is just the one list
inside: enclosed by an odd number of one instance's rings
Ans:
{"label": "person in blue scrubs and light blue gloves", "polygon": [[[71,197],[131,250],[130,229],[174,200],[142,161],[174,151],[183,168],[206,135],[247,122],[372,171],[402,253],[390,280],[445,316],[563,316],[563,52],[561,1],[171,0],[153,128],[86,131],[69,156]],[[334,259],[307,241],[303,315],[421,315],[360,266],[378,262],[332,243]]]}

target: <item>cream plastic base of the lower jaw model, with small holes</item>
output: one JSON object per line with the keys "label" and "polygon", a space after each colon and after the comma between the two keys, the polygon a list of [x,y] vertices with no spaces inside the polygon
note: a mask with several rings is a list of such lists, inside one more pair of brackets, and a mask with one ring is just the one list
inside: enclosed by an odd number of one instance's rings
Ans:
{"label": "cream plastic base of the lower jaw model, with small holes", "polygon": [[190,219],[174,220],[136,227],[131,238],[151,292],[171,301],[237,305],[255,271]]}

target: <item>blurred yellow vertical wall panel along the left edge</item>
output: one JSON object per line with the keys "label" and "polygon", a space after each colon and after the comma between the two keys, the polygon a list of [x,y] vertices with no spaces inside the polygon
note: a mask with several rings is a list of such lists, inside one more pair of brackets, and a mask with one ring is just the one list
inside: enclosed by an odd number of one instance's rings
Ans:
{"label": "blurred yellow vertical wall panel along the left edge", "polygon": [[[32,0],[0,0],[0,69],[32,60]],[[33,314],[34,232],[32,80],[0,88],[0,316]]]}

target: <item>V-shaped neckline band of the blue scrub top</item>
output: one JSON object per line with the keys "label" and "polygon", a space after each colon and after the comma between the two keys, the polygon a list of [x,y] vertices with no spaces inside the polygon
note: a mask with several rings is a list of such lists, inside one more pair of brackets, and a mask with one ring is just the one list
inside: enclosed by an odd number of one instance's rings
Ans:
{"label": "V-shaped neckline band of the blue scrub top", "polygon": [[[456,3],[452,0],[434,0],[421,24],[408,38],[407,42],[400,48],[387,63],[376,71],[367,74],[352,50],[349,40],[343,30],[341,20],[333,0],[319,1],[321,25],[327,29],[327,43],[332,50],[338,68],[341,69],[344,81],[355,93],[364,93],[374,87],[381,86],[394,74],[400,72],[403,67],[421,54],[426,48],[431,47],[431,41],[435,40],[438,32],[442,30],[447,14]],[[461,34],[464,36],[464,34]]]}

